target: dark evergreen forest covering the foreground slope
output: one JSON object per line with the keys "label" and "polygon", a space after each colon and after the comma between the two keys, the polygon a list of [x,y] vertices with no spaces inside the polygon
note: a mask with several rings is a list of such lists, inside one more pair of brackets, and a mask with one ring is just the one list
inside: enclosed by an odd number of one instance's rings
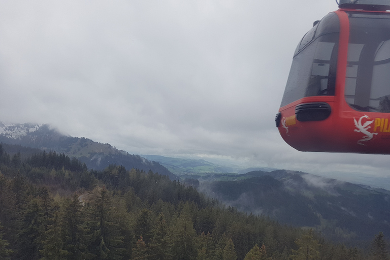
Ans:
{"label": "dark evergreen forest covering the foreground slope", "polygon": [[152,171],[88,170],[62,153],[0,144],[0,259],[388,259],[224,207]]}

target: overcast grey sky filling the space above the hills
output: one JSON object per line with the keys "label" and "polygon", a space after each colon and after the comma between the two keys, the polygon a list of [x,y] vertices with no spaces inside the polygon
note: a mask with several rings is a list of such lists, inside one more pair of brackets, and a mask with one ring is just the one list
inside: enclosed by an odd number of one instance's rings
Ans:
{"label": "overcast grey sky filling the space above the hills", "polygon": [[275,127],[294,50],[333,0],[0,0],[0,121],[131,154],[388,174],[385,155],[303,153]]}

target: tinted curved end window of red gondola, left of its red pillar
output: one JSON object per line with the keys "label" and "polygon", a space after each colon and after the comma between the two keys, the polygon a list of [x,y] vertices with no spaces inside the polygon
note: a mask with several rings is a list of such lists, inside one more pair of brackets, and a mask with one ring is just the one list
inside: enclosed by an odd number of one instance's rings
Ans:
{"label": "tinted curved end window of red gondola, left of its red pillar", "polygon": [[334,95],[339,20],[331,13],[303,37],[294,54],[281,107],[305,96]]}

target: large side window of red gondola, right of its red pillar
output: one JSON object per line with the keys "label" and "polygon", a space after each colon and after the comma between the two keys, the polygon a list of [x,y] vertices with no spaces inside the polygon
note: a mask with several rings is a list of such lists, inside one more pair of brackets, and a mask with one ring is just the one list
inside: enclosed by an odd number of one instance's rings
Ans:
{"label": "large side window of red gondola, right of its red pillar", "polygon": [[390,16],[349,16],[345,100],[358,111],[390,113]]}

